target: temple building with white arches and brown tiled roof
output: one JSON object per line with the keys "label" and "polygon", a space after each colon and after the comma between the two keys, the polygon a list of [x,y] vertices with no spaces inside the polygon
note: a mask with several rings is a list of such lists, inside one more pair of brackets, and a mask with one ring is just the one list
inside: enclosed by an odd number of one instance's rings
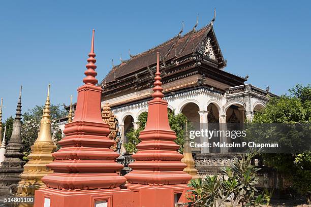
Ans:
{"label": "temple building with white arches and brown tiled roof", "polygon": [[[263,108],[270,96],[251,84],[248,77],[224,71],[224,59],[216,40],[213,21],[200,30],[196,26],[184,36],[179,34],[167,42],[113,66],[100,83],[102,106],[109,102],[119,123],[121,142],[125,134],[138,128],[138,116],[147,112],[151,99],[156,55],[160,53],[160,72],[164,99],[169,109],[183,113],[196,129],[208,122],[244,122]],[[204,137],[197,142],[204,142]],[[200,149],[196,149],[200,150]],[[201,149],[208,153],[208,149]]]}

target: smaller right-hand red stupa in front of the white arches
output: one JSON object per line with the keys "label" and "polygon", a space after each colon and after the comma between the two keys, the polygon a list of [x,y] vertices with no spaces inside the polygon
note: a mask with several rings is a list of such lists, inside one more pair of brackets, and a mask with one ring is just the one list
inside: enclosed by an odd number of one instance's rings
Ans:
{"label": "smaller right-hand red stupa in front of the white arches", "polygon": [[176,193],[184,192],[186,184],[192,179],[183,171],[186,164],[180,161],[183,155],[178,153],[179,146],[174,142],[176,133],[168,122],[168,102],[162,99],[159,53],[157,56],[147,124],[139,135],[141,143],[137,145],[138,152],[132,155],[135,161],[129,164],[133,170],[125,175],[128,189],[140,194],[141,199],[135,206],[174,206]]}

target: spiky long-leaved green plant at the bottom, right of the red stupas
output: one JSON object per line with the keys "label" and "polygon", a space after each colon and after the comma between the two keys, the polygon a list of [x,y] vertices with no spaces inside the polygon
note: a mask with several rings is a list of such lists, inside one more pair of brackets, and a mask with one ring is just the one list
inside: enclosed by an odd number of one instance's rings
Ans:
{"label": "spiky long-leaved green plant at the bottom, right of the red stupas", "polygon": [[189,206],[260,206],[264,199],[258,193],[257,172],[251,160],[257,153],[251,152],[235,158],[230,167],[221,169],[221,175],[191,180],[188,191]]}

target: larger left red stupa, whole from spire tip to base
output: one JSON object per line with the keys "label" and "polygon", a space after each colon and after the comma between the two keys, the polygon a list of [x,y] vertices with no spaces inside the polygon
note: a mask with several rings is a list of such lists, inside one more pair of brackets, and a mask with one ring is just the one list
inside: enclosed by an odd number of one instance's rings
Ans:
{"label": "larger left red stupa, whole from spire tip to base", "polygon": [[36,191],[35,207],[45,206],[47,195],[50,207],[95,206],[99,195],[106,196],[102,200],[108,203],[113,200],[117,207],[131,202],[130,191],[120,189],[126,179],[117,171],[123,165],[115,162],[119,155],[110,149],[115,142],[108,138],[109,125],[101,116],[102,88],[96,86],[94,30],[88,56],[85,85],[78,88],[75,117],[66,124],[66,136],[58,142],[61,148],[52,154],[54,161],[47,165],[54,172],[42,178],[47,188]]}

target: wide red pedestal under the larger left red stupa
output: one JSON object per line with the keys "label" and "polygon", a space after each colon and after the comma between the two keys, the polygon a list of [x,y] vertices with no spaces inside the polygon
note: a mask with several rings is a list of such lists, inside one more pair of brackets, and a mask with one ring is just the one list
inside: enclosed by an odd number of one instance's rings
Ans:
{"label": "wide red pedestal under the larger left red stupa", "polygon": [[34,207],[96,207],[101,201],[106,201],[107,207],[138,207],[133,205],[133,192],[120,188],[79,191],[42,188],[35,192]]}

